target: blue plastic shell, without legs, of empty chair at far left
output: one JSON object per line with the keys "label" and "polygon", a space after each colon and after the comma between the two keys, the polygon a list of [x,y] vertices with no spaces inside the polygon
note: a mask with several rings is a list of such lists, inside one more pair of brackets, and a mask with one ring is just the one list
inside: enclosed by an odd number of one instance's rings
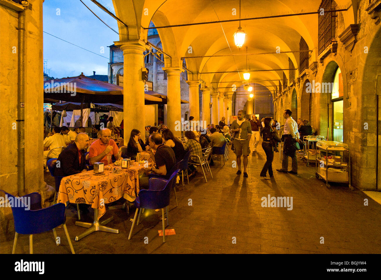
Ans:
{"label": "blue plastic shell, without legs, of empty chair at far left", "polygon": [[42,209],[41,195],[38,192],[32,192],[21,198],[14,197],[7,192],[4,193],[8,196],[8,200],[13,202],[11,208],[14,229],[19,234],[38,234],[58,227],[65,222],[64,203]]}

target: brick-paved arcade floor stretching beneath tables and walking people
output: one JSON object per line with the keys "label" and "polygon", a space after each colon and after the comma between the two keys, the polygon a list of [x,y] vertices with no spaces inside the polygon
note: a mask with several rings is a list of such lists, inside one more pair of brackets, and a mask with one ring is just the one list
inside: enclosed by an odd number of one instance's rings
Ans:
{"label": "brick-paved arcade floor stretching beneath tables and walking people", "polygon": [[[75,252],[79,253],[381,253],[381,205],[358,189],[346,184],[325,183],[315,178],[314,165],[298,160],[298,175],[278,173],[279,153],[274,155],[274,178],[259,179],[266,160],[261,145],[249,156],[248,178],[236,175],[230,159],[221,168],[219,160],[211,167],[213,178],[205,182],[201,169],[191,184],[179,187],[176,207],[173,192],[169,206],[170,226],[176,235],[158,236],[162,228],[161,211],[145,211],[139,226],[128,240],[134,214],[125,210],[107,210],[114,221],[107,226],[119,234],[95,232],[78,242],[76,235],[85,230],[75,226],[75,206],[66,210],[67,228]],[[290,160],[291,164],[291,160]],[[291,170],[291,166],[289,166]],[[46,182],[53,184],[46,173]],[[262,207],[262,197],[292,197],[292,210],[286,207]],[[368,206],[364,206],[364,199]],[[192,206],[189,206],[189,200]],[[91,221],[93,210],[82,220]],[[1,253],[11,253],[13,222],[1,240]],[[62,228],[57,229],[61,245],[56,246],[52,232],[34,235],[34,253],[70,253]],[[148,244],[144,243],[148,237]],[[234,242],[235,240],[235,242]],[[321,243],[321,240],[324,243]],[[29,253],[29,238],[19,235],[16,253]]]}

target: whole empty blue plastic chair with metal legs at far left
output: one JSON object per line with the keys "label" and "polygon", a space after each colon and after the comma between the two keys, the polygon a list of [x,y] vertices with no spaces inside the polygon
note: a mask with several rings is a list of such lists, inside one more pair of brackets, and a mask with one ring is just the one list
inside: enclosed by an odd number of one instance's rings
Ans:
{"label": "whole empty blue plastic chair with metal legs at far left", "polygon": [[[4,192],[3,190],[1,190]],[[4,192],[8,197],[12,197],[13,201],[15,197],[7,192]],[[16,234],[14,235],[12,254],[16,251],[16,243],[19,234],[29,234],[29,253],[33,254],[33,235],[39,234],[48,230],[53,230],[54,241],[57,246],[57,233],[56,227],[63,225],[67,241],[69,242],[70,250],[72,254],[75,254],[73,245],[70,241],[69,232],[66,228],[66,216],[64,203],[54,204],[47,208],[41,207],[41,195],[38,192],[32,192],[22,196],[22,198],[30,198],[30,209],[28,210],[24,203],[20,200],[19,205],[12,206],[12,213],[14,219],[14,229]],[[19,199],[19,198],[18,198]]]}

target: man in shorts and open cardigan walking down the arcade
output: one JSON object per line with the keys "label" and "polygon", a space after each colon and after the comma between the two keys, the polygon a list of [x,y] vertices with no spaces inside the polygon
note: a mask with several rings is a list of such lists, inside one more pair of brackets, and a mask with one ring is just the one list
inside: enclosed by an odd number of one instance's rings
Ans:
{"label": "man in shorts and open cardigan walking down the arcade", "polygon": [[251,138],[251,125],[250,122],[243,118],[243,110],[238,111],[237,117],[238,120],[234,120],[230,131],[234,138],[234,154],[237,156],[237,175],[241,174],[241,155],[243,155],[243,177],[248,177],[246,168],[247,157],[250,154],[249,143]]}

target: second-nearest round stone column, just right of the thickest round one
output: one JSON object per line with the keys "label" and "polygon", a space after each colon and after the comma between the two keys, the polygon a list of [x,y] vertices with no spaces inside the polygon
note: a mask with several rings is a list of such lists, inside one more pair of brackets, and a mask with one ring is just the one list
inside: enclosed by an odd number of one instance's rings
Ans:
{"label": "second-nearest round stone column, just right of the thickest round one", "polygon": [[167,126],[175,137],[181,137],[181,130],[176,131],[176,122],[181,122],[181,93],[179,67],[166,67],[167,74]]}

